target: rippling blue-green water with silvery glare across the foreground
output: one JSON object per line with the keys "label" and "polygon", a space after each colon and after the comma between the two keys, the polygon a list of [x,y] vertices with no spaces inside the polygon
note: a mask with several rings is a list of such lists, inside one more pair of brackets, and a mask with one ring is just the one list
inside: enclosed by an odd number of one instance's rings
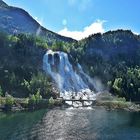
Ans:
{"label": "rippling blue-green water with silvery glare across the foreground", "polygon": [[140,140],[140,113],[104,108],[0,113],[0,140]]}

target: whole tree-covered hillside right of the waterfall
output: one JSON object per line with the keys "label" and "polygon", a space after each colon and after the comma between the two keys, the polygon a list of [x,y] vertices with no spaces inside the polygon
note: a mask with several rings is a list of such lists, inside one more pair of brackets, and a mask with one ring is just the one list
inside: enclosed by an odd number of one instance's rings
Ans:
{"label": "whole tree-covered hillside right of the waterfall", "polygon": [[140,36],[129,30],[94,34],[79,41],[71,53],[100,85],[126,100],[140,101]]}

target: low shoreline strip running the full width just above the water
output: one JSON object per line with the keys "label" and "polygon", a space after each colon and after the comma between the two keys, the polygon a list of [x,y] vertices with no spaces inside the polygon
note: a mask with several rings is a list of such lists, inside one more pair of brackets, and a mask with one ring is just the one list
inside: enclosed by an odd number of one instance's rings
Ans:
{"label": "low shoreline strip running the full width just above the water", "polygon": [[[97,99],[95,100],[95,102],[92,105],[88,105],[88,106],[78,106],[78,107],[74,107],[73,105],[69,105],[67,103],[64,103],[62,99],[54,99],[54,103],[53,104],[49,104],[47,102],[47,99],[45,104],[44,102],[40,102],[38,104],[34,104],[34,105],[13,105],[11,106],[11,108],[9,108],[8,110],[6,109],[5,105],[0,105],[0,112],[22,112],[22,111],[37,111],[40,109],[54,109],[54,108],[69,108],[69,107],[73,107],[73,108],[88,108],[91,107],[94,109],[94,107],[104,107],[106,110],[124,110],[124,111],[129,111],[129,112],[140,112],[140,104],[135,104],[133,102],[127,102],[124,100],[120,100],[120,98],[116,98],[113,97],[112,95],[110,96],[112,98],[112,100],[104,100],[103,98],[108,98],[108,95],[100,96],[99,98],[97,97]],[[110,98],[109,97],[109,98]],[[24,99],[24,98],[23,98]],[[44,100],[44,99],[43,99]],[[42,101],[42,100],[41,100]],[[80,102],[80,101],[79,101]]]}

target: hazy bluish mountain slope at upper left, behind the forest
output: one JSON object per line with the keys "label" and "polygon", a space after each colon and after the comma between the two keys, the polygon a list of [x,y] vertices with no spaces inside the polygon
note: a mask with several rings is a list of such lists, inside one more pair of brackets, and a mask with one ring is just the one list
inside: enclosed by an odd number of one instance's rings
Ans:
{"label": "hazy bluish mountain slope at upper left, behind the forest", "polygon": [[49,43],[53,41],[73,42],[71,38],[63,37],[42,27],[25,10],[8,6],[0,0],[0,30],[9,34],[29,33],[45,37]]}

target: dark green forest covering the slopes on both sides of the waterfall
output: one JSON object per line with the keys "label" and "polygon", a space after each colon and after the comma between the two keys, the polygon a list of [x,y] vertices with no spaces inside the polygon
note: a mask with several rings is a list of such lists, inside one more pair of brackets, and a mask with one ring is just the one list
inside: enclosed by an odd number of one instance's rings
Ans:
{"label": "dark green forest covering the slopes on both sides of the waterfall", "polygon": [[42,58],[48,49],[67,52],[73,66],[80,63],[113,95],[140,101],[140,36],[129,30],[51,44],[39,36],[1,32],[0,96],[57,98],[53,81],[42,70]]}

